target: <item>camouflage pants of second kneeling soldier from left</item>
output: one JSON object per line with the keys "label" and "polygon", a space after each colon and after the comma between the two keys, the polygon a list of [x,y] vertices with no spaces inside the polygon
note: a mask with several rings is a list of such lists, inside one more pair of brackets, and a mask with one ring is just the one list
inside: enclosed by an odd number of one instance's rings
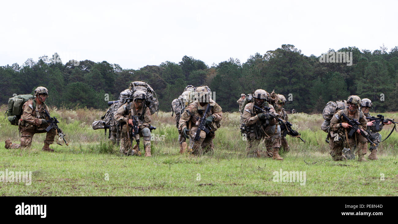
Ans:
{"label": "camouflage pants of second kneeling soldier from left", "polygon": [[[130,138],[133,138],[133,136],[130,136]],[[140,140],[140,138],[143,138],[143,143],[144,143],[144,149],[150,148],[150,130],[149,128],[146,128],[144,126],[140,126],[140,132],[139,132],[139,137],[136,136]],[[133,139],[133,144],[136,143],[136,140]],[[123,125],[122,131],[120,134],[120,152],[128,155],[128,153],[131,152],[133,149],[131,140],[129,139],[129,135],[127,135],[127,125]]]}

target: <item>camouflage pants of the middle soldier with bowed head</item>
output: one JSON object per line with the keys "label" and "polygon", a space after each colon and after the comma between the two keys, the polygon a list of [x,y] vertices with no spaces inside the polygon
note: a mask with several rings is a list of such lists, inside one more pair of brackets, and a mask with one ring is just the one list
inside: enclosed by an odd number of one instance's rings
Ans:
{"label": "camouflage pants of the middle soldier with bowed head", "polygon": [[[193,135],[197,131],[197,127],[192,127],[191,130],[189,131],[189,147],[193,143]],[[203,153],[206,152],[213,152],[214,150],[214,143],[213,139],[215,138],[215,133],[209,133],[206,134],[206,132],[201,131],[200,132],[200,138],[199,140],[195,141],[192,147],[192,154],[193,155],[202,155]]]}

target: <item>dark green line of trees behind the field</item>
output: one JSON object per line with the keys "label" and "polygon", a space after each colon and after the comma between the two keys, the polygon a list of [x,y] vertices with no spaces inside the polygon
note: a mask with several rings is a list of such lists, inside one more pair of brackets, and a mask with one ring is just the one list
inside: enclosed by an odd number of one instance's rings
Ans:
{"label": "dark green line of trees behind the field", "polygon": [[0,102],[7,104],[13,94],[32,94],[37,86],[45,86],[50,94],[49,106],[105,109],[105,100],[117,100],[130,82],[146,81],[156,91],[163,111],[170,111],[172,100],[189,84],[209,86],[224,111],[237,111],[240,94],[258,88],[285,95],[287,110],[319,113],[328,101],[355,94],[371,99],[378,112],[396,111],[398,46],[390,51],[384,45],[373,52],[357,47],[337,51],[352,52],[352,65],[322,63],[321,55],[303,55],[290,44],[264,55],[256,53],[244,63],[230,58],[209,66],[185,55],[178,63],[166,61],[137,70],[107,61],[63,64],[55,53],[52,58],[28,59],[21,66],[14,63],[0,67]]}

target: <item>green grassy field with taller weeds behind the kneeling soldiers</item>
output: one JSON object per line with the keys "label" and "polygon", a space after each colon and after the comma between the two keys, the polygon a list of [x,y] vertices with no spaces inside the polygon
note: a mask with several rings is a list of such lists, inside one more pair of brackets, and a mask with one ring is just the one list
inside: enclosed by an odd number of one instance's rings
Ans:
{"label": "green grassy field with taller weeds behind the kneeling soldiers", "polygon": [[[5,111],[5,105],[0,106]],[[398,135],[379,147],[378,161],[332,161],[320,130],[322,116],[291,114],[290,121],[306,143],[288,137],[291,151],[283,161],[247,158],[238,129],[239,114],[224,113],[213,155],[180,155],[171,113],[154,115],[152,157],[127,157],[104,141],[91,123],[100,110],[56,110],[69,146],[41,151],[45,134],[31,149],[5,149],[4,140],[19,143],[18,128],[0,119],[0,172],[32,171],[31,185],[0,183],[4,196],[398,196]],[[373,115],[376,115],[373,113]],[[396,118],[397,113],[384,113]],[[383,139],[392,126],[382,130]],[[140,145],[143,151],[143,145]],[[303,182],[274,182],[275,171],[305,171]]]}

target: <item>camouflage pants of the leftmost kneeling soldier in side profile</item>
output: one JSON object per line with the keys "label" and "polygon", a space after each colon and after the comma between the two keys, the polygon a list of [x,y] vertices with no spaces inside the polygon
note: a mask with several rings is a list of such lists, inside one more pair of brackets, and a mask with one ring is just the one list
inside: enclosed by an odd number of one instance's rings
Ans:
{"label": "camouflage pants of the leftmost kneeling soldier in side profile", "polygon": [[[21,123],[24,124],[23,122]],[[13,143],[11,145],[11,148],[18,149],[19,147],[30,147],[32,145],[33,135],[38,133],[47,133],[44,142],[49,143],[51,145],[54,142],[56,131],[55,129],[52,129],[51,131],[46,132],[47,127],[48,125],[43,125],[43,124],[40,125],[39,127],[33,126],[31,124],[26,124],[25,126],[22,126],[20,124],[19,129],[21,135],[21,143],[20,144]]]}

